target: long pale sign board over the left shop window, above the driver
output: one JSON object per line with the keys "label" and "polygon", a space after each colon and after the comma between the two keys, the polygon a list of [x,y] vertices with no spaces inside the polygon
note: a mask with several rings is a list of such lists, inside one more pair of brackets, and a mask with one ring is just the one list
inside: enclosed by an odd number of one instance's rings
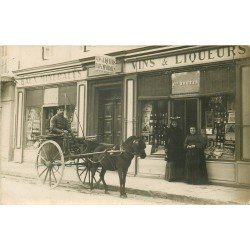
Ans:
{"label": "long pale sign board over the left shop window, above the driver", "polygon": [[86,72],[79,70],[73,72],[42,75],[36,77],[17,78],[16,86],[19,88],[31,87],[31,86],[47,85],[60,82],[78,81],[84,78],[86,78]]}

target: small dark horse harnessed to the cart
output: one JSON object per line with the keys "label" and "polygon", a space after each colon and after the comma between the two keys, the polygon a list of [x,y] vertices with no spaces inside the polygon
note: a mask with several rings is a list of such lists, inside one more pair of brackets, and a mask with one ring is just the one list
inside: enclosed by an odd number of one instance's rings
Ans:
{"label": "small dark horse harnessed to the cart", "polygon": [[[127,197],[125,192],[125,183],[126,183],[128,168],[135,155],[140,156],[142,159],[146,157],[145,153],[146,145],[143,138],[130,136],[122,144],[121,147],[123,151],[118,155],[117,153],[113,155],[107,153],[104,156],[95,155],[93,157],[93,161],[96,163],[92,163],[91,167],[91,173],[92,173],[91,184],[90,184],[91,190],[93,189],[93,179],[98,167],[101,167],[100,180],[104,185],[105,193],[108,193],[108,186],[104,180],[104,175],[106,171],[118,170],[119,180],[120,180],[120,197],[122,198]],[[98,147],[95,148],[94,152],[102,152],[108,149],[109,147],[106,145],[99,145]]]}

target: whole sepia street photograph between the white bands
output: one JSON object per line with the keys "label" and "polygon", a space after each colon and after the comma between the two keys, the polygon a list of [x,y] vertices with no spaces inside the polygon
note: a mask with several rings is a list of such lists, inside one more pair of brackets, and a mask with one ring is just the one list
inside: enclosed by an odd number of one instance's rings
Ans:
{"label": "whole sepia street photograph between the white bands", "polygon": [[250,46],[0,49],[1,204],[249,203]]}

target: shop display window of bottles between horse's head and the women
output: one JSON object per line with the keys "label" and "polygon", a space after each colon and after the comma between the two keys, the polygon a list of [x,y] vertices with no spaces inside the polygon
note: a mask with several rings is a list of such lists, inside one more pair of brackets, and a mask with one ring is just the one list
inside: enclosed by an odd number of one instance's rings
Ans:
{"label": "shop display window of bottles between horse's head and the women", "polygon": [[143,101],[141,114],[141,135],[146,141],[147,154],[165,154],[165,131],[168,124],[167,101]]}

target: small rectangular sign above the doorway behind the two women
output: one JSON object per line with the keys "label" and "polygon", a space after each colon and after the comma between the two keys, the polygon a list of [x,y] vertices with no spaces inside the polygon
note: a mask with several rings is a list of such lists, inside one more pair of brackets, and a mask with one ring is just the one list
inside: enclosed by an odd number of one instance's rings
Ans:
{"label": "small rectangular sign above the doorway behind the two women", "polygon": [[172,94],[197,93],[200,91],[200,71],[172,74]]}

